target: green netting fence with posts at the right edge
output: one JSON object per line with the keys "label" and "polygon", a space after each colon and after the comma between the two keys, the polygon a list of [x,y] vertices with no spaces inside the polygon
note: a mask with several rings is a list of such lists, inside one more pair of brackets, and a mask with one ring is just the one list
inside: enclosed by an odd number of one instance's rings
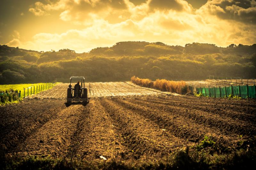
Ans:
{"label": "green netting fence with posts at the right edge", "polygon": [[229,87],[197,87],[196,93],[202,93],[203,96],[208,97],[229,97],[238,96],[241,98],[256,98],[256,86],[255,85],[238,85]]}

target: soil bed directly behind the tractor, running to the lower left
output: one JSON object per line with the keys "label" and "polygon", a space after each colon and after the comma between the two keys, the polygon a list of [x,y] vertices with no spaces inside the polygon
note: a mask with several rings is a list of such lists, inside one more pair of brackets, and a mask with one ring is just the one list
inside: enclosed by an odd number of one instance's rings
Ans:
{"label": "soil bed directly behind the tractor, running to the lower left", "polygon": [[50,121],[37,129],[26,141],[16,148],[21,156],[35,155],[45,157],[63,157],[68,152],[72,135],[76,131],[82,105],[71,105],[61,110]]}

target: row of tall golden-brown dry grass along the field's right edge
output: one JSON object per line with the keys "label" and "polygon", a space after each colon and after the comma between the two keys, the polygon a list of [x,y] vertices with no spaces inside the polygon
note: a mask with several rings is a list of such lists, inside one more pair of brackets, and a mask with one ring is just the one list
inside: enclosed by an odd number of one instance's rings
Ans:
{"label": "row of tall golden-brown dry grass along the field's right edge", "polygon": [[165,79],[156,79],[156,81],[152,81],[150,79],[142,79],[135,76],[131,78],[131,81],[136,85],[155,88],[167,92],[173,92],[178,94],[185,94],[189,92],[188,85],[185,81],[169,81]]}

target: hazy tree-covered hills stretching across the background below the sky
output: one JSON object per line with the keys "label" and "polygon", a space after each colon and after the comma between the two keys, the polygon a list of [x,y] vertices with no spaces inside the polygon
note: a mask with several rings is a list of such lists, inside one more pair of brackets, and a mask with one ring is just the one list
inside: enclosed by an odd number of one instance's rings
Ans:
{"label": "hazy tree-covered hills stretching across the background below the sky", "polygon": [[0,45],[0,82],[52,81],[84,76],[87,81],[141,78],[203,79],[209,76],[254,78],[256,44],[226,48],[192,43],[169,46],[161,42],[127,41],[89,53],[70,49],[38,52]]}

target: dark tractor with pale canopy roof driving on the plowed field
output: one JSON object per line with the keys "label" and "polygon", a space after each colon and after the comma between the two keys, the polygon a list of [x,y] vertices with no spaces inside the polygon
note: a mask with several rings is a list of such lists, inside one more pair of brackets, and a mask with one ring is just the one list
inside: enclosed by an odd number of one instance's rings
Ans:
{"label": "dark tractor with pale canopy roof driving on the plowed field", "polygon": [[[80,90],[72,88],[72,79],[82,79]],[[70,84],[68,85],[67,92],[67,103],[71,104],[72,101],[82,101],[84,104],[89,101],[87,97],[87,88],[84,85],[84,77],[70,77]]]}

